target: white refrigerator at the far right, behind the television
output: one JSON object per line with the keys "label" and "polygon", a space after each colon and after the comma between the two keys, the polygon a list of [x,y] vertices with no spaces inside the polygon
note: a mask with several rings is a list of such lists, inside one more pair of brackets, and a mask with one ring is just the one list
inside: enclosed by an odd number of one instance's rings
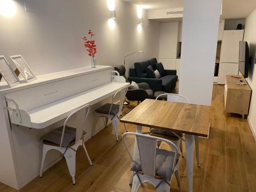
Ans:
{"label": "white refrigerator at the far right, behind the television", "polygon": [[239,41],[244,38],[244,30],[224,30],[221,44],[218,84],[225,84],[226,75],[238,75]]}

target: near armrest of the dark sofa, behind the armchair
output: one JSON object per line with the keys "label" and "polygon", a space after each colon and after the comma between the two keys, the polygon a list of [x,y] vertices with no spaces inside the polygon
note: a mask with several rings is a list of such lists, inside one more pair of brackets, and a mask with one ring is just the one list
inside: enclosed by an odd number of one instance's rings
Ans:
{"label": "near armrest of the dark sofa, behind the armchair", "polygon": [[141,78],[141,77],[128,77],[129,81],[141,83],[146,82],[153,92],[162,91],[162,79],[153,79],[153,78]]}

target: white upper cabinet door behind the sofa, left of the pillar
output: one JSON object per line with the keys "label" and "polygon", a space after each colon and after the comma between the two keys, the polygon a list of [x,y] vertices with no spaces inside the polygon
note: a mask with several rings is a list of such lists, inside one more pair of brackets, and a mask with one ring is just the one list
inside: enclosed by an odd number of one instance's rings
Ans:
{"label": "white upper cabinet door behind the sofa, left of the pillar", "polygon": [[161,23],[159,58],[176,59],[179,22]]}

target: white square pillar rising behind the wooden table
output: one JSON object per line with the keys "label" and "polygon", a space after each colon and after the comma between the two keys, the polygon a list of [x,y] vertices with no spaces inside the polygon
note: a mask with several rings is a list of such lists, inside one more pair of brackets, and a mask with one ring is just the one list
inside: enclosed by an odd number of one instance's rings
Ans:
{"label": "white square pillar rising behind the wooden table", "polygon": [[221,0],[185,0],[179,94],[211,104]]}

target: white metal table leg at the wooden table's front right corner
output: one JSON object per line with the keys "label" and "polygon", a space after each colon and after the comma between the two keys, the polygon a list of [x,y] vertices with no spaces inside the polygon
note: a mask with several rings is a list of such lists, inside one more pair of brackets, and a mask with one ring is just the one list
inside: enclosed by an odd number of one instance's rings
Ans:
{"label": "white metal table leg at the wooden table's front right corner", "polygon": [[188,192],[193,191],[194,138],[194,135],[185,134]]}

